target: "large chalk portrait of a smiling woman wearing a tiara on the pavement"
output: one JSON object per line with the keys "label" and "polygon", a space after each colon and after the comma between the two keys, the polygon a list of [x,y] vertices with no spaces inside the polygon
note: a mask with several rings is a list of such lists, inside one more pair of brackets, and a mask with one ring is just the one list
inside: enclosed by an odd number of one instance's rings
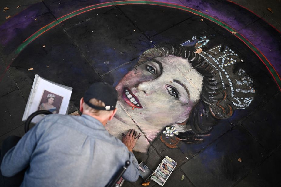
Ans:
{"label": "large chalk portrait of a smiling woman wearing a tiara on the pavement", "polygon": [[[162,133],[175,143],[200,143],[220,119],[248,107],[255,93],[253,80],[237,68],[245,62],[227,46],[201,53],[195,46],[162,44],[146,50],[116,86],[127,113],[117,112],[106,126],[109,132],[119,137],[129,129],[129,114],[149,141]],[[142,137],[134,150],[147,152],[145,142]]]}

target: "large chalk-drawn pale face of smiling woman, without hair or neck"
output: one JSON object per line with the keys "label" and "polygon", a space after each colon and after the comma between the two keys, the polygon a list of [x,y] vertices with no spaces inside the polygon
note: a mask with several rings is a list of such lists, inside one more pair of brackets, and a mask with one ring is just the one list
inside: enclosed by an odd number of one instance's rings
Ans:
{"label": "large chalk-drawn pale face of smiling woman, without hair or neck", "polygon": [[160,129],[189,117],[200,98],[202,79],[186,59],[160,56],[129,71],[116,90],[136,123]]}

